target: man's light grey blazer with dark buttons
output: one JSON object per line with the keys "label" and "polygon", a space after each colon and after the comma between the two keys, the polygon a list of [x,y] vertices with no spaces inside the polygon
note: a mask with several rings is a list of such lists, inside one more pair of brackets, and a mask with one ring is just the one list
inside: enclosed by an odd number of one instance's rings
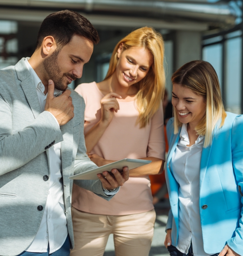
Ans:
{"label": "man's light grey blazer with dark buttons", "polygon": [[[85,103],[72,91],[74,118],[60,128],[46,111],[41,113],[36,88],[24,58],[0,70],[0,255],[22,253],[32,243],[46,206],[49,153],[45,147],[61,142],[64,202],[69,236],[73,242],[71,217],[72,180],[68,177],[94,169],[86,155],[83,135]],[[76,180],[78,186],[104,199],[99,180]],[[39,211],[37,206],[43,206]]]}

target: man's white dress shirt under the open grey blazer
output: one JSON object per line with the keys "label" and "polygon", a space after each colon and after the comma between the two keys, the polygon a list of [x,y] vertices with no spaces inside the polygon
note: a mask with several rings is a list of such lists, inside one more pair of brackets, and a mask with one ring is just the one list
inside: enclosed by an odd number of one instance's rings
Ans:
{"label": "man's white dress shirt under the open grey blazer", "polygon": [[[37,76],[36,72],[30,66],[27,58],[26,66],[30,71],[30,75],[36,86],[36,92],[39,98],[41,110],[44,111],[46,105],[46,95],[44,94],[45,86]],[[55,89],[54,96],[58,96],[62,91]],[[50,112],[49,112],[50,113]],[[50,113],[50,115],[52,115]],[[52,115],[53,116],[53,115]],[[53,118],[55,118],[53,116]],[[56,120],[56,118],[55,118]],[[57,122],[57,120],[56,120]],[[57,125],[59,126],[58,122]],[[67,220],[65,215],[65,206],[63,200],[63,185],[62,185],[62,160],[61,160],[61,143],[56,143],[49,149],[49,164],[50,164],[50,185],[44,210],[43,218],[39,226],[39,230],[35,239],[31,243],[27,252],[45,253],[49,243],[49,253],[54,253],[60,249],[68,235]],[[46,173],[48,175],[48,173]]]}

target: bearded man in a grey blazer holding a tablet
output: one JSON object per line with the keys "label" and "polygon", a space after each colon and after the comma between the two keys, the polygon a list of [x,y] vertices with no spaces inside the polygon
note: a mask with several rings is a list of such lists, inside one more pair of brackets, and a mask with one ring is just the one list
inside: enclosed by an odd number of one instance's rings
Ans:
{"label": "bearded man in a grey blazer holding a tablet", "polygon": [[[86,155],[84,100],[67,88],[98,42],[79,13],[52,13],[32,57],[0,70],[2,256],[67,256],[74,246],[68,177],[97,166]],[[74,182],[109,200],[128,180],[128,168],[112,173]]]}

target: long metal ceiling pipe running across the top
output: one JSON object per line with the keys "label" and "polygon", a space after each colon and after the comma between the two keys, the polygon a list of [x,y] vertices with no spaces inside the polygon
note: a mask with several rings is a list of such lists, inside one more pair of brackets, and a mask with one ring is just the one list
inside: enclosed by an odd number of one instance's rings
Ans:
{"label": "long metal ceiling pipe running across the top", "polygon": [[[190,0],[189,0],[190,1]],[[227,3],[205,3],[205,0],[160,1],[160,0],[0,0],[0,4],[31,6],[31,7],[61,7],[83,9],[88,12],[117,12],[136,16],[154,13],[159,18],[184,17],[207,22],[222,22],[234,24],[237,11]]]}

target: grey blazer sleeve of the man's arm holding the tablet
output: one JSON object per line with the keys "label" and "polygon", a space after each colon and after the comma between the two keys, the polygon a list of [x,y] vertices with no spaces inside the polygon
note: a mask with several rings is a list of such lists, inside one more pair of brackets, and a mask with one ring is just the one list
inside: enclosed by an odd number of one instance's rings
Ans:
{"label": "grey blazer sleeve of the man's arm holding the tablet", "polygon": [[[85,138],[84,138],[84,110],[85,110],[85,103],[83,98],[81,97],[81,131],[80,131],[80,137],[79,137],[79,146],[78,151],[76,154],[75,162],[74,162],[74,175],[78,173],[83,173],[85,171],[93,170],[97,168],[97,165],[93,163],[89,157],[86,154],[86,146],[85,146]],[[114,195],[111,195],[109,193],[105,194],[102,183],[100,180],[74,180],[74,183],[85,190],[92,191],[97,196],[102,197],[103,199],[106,199],[109,201],[112,199]],[[119,187],[116,191],[118,192]]]}

